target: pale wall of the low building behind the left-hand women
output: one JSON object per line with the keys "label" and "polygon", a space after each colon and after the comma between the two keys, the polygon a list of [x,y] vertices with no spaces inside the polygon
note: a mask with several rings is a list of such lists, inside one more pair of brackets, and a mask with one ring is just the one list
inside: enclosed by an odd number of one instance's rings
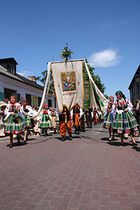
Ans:
{"label": "pale wall of the low building behind the left-hand women", "polygon": [[[4,93],[4,88],[8,88],[11,90],[16,90],[17,94],[20,94],[20,98],[26,98],[26,94],[31,95],[31,105],[33,105],[33,96],[42,97],[43,90],[35,88],[33,86],[27,85],[25,83],[21,83],[12,78],[8,78],[4,75],[0,75],[0,93]],[[55,97],[49,94],[46,97],[45,103],[48,104],[48,99],[52,100],[52,106],[54,106]],[[37,100],[38,103],[38,100]]]}

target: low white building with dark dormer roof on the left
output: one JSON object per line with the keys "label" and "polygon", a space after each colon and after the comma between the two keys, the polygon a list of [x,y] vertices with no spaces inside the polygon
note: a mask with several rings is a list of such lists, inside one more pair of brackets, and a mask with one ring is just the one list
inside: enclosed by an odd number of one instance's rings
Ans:
{"label": "low white building with dark dormer roof on the left", "polygon": [[[0,59],[0,101],[15,95],[16,99],[27,99],[28,104],[39,106],[44,88],[35,82],[35,77],[29,79],[16,73],[17,62],[14,58]],[[45,103],[56,107],[56,97],[50,91]]]}

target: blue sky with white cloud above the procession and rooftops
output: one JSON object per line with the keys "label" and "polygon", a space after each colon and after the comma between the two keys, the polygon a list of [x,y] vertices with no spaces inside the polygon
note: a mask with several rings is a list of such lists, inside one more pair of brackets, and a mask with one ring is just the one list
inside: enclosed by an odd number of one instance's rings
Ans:
{"label": "blue sky with white cloud above the procession and rooftops", "polygon": [[18,72],[40,75],[60,60],[87,58],[108,95],[128,86],[140,64],[139,0],[1,0],[0,58],[14,57]]}

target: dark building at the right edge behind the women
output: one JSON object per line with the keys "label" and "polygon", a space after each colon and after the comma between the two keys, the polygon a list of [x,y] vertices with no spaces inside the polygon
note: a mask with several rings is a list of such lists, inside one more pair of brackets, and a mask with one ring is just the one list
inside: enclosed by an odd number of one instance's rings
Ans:
{"label": "dark building at the right edge behind the women", "polygon": [[136,100],[140,100],[140,65],[130,83],[129,86],[129,91],[130,91],[130,100],[132,104],[135,106]]}

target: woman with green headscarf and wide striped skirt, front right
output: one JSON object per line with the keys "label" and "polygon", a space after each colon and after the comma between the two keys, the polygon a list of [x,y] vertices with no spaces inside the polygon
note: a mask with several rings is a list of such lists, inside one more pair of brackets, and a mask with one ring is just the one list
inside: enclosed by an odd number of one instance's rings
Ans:
{"label": "woman with green headscarf and wide striped skirt, front right", "polygon": [[122,144],[124,144],[124,133],[130,132],[131,140],[133,144],[136,145],[134,133],[137,130],[137,122],[131,112],[132,104],[129,100],[126,100],[122,91],[117,91],[115,95],[117,98],[115,102],[116,113],[113,119],[112,128],[116,129],[117,132],[120,133]]}

